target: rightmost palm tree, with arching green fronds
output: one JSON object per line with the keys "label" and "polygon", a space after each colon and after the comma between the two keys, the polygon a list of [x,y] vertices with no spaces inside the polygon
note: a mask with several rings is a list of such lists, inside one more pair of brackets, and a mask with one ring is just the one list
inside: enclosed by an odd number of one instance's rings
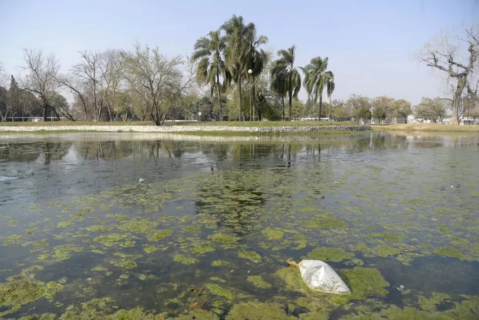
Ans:
{"label": "rightmost palm tree, with arching green fronds", "polygon": [[[318,102],[319,96],[319,118],[322,112],[322,92],[324,87],[328,88],[328,96],[334,91],[334,75],[331,71],[326,71],[328,65],[328,58],[316,57],[311,59],[311,62],[304,68],[301,68],[304,72],[303,85],[308,91],[308,94],[313,96],[313,103]],[[329,81],[331,80],[331,81]]]}

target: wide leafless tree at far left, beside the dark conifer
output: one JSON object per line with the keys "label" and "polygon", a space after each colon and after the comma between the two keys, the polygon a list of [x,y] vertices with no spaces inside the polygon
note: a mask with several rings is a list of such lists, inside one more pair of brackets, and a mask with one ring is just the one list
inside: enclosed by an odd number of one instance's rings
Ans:
{"label": "wide leafless tree at far left, beside the dark conifer", "polygon": [[23,87],[37,95],[43,108],[43,121],[46,121],[47,110],[50,109],[60,119],[52,101],[57,87],[57,75],[60,68],[53,53],[45,55],[41,50],[23,49],[26,66],[22,67],[26,73]]}

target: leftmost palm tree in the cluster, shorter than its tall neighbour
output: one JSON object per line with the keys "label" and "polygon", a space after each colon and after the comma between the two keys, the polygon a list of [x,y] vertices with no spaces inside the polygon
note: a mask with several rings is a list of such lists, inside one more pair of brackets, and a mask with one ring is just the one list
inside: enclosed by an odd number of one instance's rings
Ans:
{"label": "leftmost palm tree in the cluster, shorter than its tall neighbour", "polygon": [[[195,52],[192,55],[193,61],[199,61],[197,76],[201,83],[209,84],[211,95],[216,87],[219,103],[219,117],[223,121],[223,109],[221,107],[221,91],[226,91],[231,83],[231,75],[223,59],[226,49],[225,38],[219,30],[211,31],[208,37],[201,37],[195,43]],[[223,78],[223,86],[220,86],[220,75]]]}

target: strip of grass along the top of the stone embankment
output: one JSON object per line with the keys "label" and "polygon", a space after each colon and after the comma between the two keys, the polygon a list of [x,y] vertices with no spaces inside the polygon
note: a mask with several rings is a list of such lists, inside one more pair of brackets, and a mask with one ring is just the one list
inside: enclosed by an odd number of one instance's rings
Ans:
{"label": "strip of grass along the top of the stone embankment", "polygon": [[[152,121],[128,122],[93,122],[93,121],[52,121],[52,122],[0,122],[4,127],[44,127],[44,126],[153,126]],[[187,122],[168,121],[164,126],[225,126],[225,127],[320,127],[320,126],[354,126],[353,121],[221,121],[221,122]]]}

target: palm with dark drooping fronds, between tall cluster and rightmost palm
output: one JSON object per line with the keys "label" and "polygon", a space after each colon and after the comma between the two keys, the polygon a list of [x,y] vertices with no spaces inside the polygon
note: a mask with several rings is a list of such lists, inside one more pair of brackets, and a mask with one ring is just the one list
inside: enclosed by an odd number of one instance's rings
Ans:
{"label": "palm with dark drooping fronds, between tall cluster and rightmost palm", "polygon": [[296,46],[291,46],[287,50],[279,50],[279,59],[275,61],[273,69],[271,70],[273,89],[280,95],[285,95],[285,93],[288,95],[289,120],[291,120],[292,117],[291,108],[293,97],[297,97],[301,89],[301,75],[298,69],[294,67],[295,50]]}

